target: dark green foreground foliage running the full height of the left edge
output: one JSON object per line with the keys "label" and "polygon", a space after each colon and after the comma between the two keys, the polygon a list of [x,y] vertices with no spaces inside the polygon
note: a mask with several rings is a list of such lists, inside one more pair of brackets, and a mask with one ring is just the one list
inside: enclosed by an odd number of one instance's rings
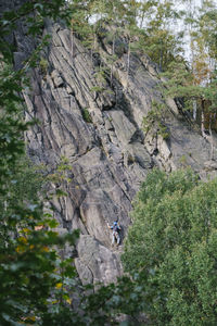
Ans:
{"label": "dark green foreground foliage running the full height of the left edge", "polygon": [[[28,16],[36,9],[36,16]],[[66,15],[65,1],[27,1],[16,12],[4,12],[0,21],[4,62],[0,71],[1,325],[44,325],[46,316],[52,321],[52,297],[58,302],[59,318],[71,308],[68,293],[63,289],[68,283],[69,271],[71,277],[75,276],[75,272],[72,261],[60,259],[56,248],[60,250],[66,242],[74,246],[78,233],[59,236],[53,230],[58,226],[56,221],[43,212],[41,202],[44,176],[24,155],[24,131],[35,122],[24,121],[20,92],[28,87],[26,71],[36,65],[47,39],[16,72],[10,65],[11,51],[15,49],[11,49],[4,39],[21,17],[27,20],[28,33],[35,35],[41,28],[40,17],[56,17],[58,14],[61,17]],[[61,293],[58,286],[60,278],[63,285]]]}

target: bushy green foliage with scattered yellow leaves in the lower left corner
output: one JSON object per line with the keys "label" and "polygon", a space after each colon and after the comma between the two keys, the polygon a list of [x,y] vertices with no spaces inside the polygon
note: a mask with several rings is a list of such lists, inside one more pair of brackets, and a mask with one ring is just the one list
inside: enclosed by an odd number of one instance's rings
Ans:
{"label": "bushy green foliage with scattered yellow leaves in the lower left corner", "polygon": [[67,263],[68,269],[72,262],[62,260],[59,264],[55,248],[66,241],[74,246],[78,237],[76,231],[59,236],[52,230],[56,222],[52,215],[43,214],[38,198],[42,193],[43,176],[22,155],[13,163],[14,171],[10,171],[0,196],[1,325],[29,318],[41,322],[43,314],[50,314],[51,296],[60,309],[67,306],[66,293],[60,304],[60,290],[55,289],[60,278],[64,285],[68,277],[62,265]]}

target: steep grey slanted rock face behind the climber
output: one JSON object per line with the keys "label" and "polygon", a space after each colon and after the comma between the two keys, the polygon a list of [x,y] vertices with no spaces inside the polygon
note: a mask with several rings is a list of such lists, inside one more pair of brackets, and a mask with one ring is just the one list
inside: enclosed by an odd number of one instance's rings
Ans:
{"label": "steep grey slanted rock face behind the climber", "polygon": [[[22,33],[14,32],[17,67],[34,48],[30,40],[22,42]],[[68,159],[68,196],[53,200],[54,214],[60,227],[81,230],[75,260],[81,281],[108,284],[122,274],[122,249],[111,248],[106,223],[118,220],[125,238],[131,200],[149,171],[190,165],[205,177],[210,170],[216,173],[216,164],[207,163],[209,145],[190,128],[171,99],[165,115],[169,138],[143,134],[143,116],[153,100],[162,99],[161,78],[149,58],[131,55],[128,70],[126,51],[118,51],[112,83],[108,77],[102,82],[97,71],[111,53],[106,40],[99,43],[100,54],[91,57],[65,27],[47,22],[43,33],[51,35],[41,53],[46,65],[30,73],[31,89],[24,93],[26,120],[40,122],[26,133],[28,152],[49,166],[61,156]]]}

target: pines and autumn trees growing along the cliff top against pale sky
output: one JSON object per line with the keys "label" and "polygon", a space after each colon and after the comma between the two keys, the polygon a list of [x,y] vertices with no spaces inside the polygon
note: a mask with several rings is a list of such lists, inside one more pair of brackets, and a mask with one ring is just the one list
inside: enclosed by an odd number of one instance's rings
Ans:
{"label": "pines and autumn trees growing along the cliff top against pale sky", "polygon": [[[159,125],[164,125],[166,99],[170,97],[182,111],[188,112],[193,123],[201,126],[202,136],[209,140],[212,130],[217,128],[217,3],[208,0],[202,1],[201,5],[194,0],[180,2],[69,1],[74,12],[72,32],[80,38],[92,57],[99,53],[100,45],[106,39],[111,50],[107,53],[104,51],[100,70],[110,67],[106,78],[111,85],[114,84],[120,42],[127,78],[132,55],[148,54],[163,73],[164,86],[161,91],[164,108],[159,103],[163,108]],[[144,117],[143,124],[145,129],[152,130],[153,123],[150,120]],[[209,138],[206,137],[206,130]]]}

